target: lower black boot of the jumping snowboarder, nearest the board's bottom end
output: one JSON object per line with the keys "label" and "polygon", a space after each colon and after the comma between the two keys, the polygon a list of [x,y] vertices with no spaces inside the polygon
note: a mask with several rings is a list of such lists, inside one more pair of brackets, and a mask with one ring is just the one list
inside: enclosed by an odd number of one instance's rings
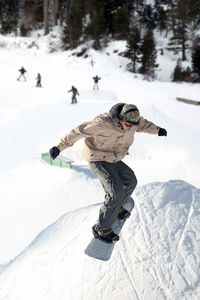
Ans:
{"label": "lower black boot of the jumping snowboarder, nearest the board's bottom end", "polygon": [[93,235],[95,239],[99,239],[102,242],[112,244],[119,240],[118,234],[114,233],[111,228],[102,228],[96,230],[95,225],[92,227]]}

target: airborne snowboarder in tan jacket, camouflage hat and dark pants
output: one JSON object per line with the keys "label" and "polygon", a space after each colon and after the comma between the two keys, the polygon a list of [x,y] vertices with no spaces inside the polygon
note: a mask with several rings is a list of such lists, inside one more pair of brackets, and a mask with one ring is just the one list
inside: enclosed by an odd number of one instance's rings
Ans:
{"label": "airborne snowboarder in tan jacket, camouflage hat and dark pants", "polygon": [[164,128],[141,117],[135,105],[118,103],[109,112],[72,129],[49,151],[55,159],[60,151],[84,138],[83,157],[89,162],[91,171],[99,178],[105,191],[99,219],[92,230],[95,238],[104,239],[107,243],[119,240],[119,236],[112,231],[116,218],[126,220],[130,216],[122,205],[132,195],[137,179],[122,159],[128,154],[136,132],[167,135]]}

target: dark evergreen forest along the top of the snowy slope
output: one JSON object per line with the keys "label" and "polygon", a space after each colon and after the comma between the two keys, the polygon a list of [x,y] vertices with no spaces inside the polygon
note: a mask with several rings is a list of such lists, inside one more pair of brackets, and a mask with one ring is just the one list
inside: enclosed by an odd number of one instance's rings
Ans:
{"label": "dark evergreen forest along the top of the snowy slope", "polygon": [[[154,32],[168,38],[167,50],[180,54],[172,80],[200,81],[200,0],[1,0],[0,33],[28,36],[62,28],[62,49],[92,41],[96,50],[125,40],[129,71],[154,78],[158,68]],[[187,57],[187,50],[191,57]],[[161,49],[162,50],[162,49]],[[189,59],[191,68],[182,61]]]}

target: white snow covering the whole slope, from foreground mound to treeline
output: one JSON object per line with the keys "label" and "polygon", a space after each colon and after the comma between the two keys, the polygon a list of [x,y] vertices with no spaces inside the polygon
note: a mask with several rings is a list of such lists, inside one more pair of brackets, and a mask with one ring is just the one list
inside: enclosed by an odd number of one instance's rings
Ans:
{"label": "white snow covering the whole slope, from foreground mound to treeline", "polygon": [[[116,53],[124,43],[83,58],[72,55],[81,48],[60,51],[58,36],[1,36],[0,299],[199,299],[200,106],[176,97],[200,101],[200,86],[169,82],[176,60],[167,52],[158,53],[160,81],[147,82],[126,71]],[[27,82],[16,80],[22,66]],[[35,87],[38,72],[43,88]],[[84,254],[103,189],[82,141],[62,153],[72,169],[46,164],[41,153],[117,102],[136,104],[168,136],[136,134],[124,159],[138,178],[135,209],[102,262]]]}

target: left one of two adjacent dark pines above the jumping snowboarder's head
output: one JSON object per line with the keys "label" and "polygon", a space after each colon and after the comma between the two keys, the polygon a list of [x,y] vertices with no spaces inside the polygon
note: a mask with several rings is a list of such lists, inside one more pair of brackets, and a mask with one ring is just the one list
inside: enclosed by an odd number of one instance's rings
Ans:
{"label": "left one of two adjacent dark pines above the jumping snowboarder's head", "polygon": [[126,44],[125,56],[131,60],[131,71],[136,72],[137,63],[140,61],[141,53],[141,36],[139,29],[132,25],[129,30],[129,35]]}

